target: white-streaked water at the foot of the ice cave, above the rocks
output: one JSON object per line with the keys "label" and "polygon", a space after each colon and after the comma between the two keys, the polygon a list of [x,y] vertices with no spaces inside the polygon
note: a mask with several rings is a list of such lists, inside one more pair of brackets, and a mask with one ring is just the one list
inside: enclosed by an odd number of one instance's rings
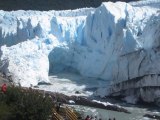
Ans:
{"label": "white-streaked water at the foot of the ice cave, above the rocks", "polygon": [[107,81],[102,79],[97,80],[92,77],[83,77],[80,74],[72,72],[57,73],[51,75],[49,79],[52,85],[40,85],[40,89],[60,92],[66,95],[77,95],[75,91],[79,91],[80,94],[78,95],[80,96],[96,96],[100,88],[106,89],[106,86],[109,85]]}

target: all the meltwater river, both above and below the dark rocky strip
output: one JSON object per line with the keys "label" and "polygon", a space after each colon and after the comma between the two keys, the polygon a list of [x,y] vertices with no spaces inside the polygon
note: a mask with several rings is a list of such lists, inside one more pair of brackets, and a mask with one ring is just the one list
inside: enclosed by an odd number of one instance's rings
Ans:
{"label": "all the meltwater river, both above and below the dark rocky strip", "polygon": [[[79,91],[81,96],[92,96],[97,88],[104,88],[108,84],[104,80],[96,80],[94,78],[84,78],[75,73],[59,73],[50,76],[50,81],[52,85],[40,85],[39,89],[60,92],[66,95],[77,95],[75,91]],[[108,100],[102,100],[103,102],[108,102]],[[103,110],[98,108],[91,108],[79,105],[73,105],[77,111],[82,113],[83,116],[92,115],[102,118],[102,120],[108,120],[109,118],[116,118],[116,120],[152,120],[150,118],[145,118],[145,114],[157,114],[160,115],[160,108],[145,106],[145,105],[130,105],[120,101],[109,102],[121,105],[125,107],[131,114],[115,112],[110,110]]]}

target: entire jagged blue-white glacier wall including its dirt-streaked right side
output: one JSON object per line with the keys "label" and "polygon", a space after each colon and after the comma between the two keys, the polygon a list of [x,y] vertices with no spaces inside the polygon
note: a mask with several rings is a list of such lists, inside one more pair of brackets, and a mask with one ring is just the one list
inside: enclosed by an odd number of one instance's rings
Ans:
{"label": "entire jagged blue-white glacier wall including its dirt-streaked right side", "polygon": [[107,2],[74,11],[0,11],[1,60],[8,60],[8,70],[1,71],[9,71],[15,83],[30,86],[48,83],[49,71],[74,69],[110,81],[105,95],[158,102],[160,2],[144,3]]}

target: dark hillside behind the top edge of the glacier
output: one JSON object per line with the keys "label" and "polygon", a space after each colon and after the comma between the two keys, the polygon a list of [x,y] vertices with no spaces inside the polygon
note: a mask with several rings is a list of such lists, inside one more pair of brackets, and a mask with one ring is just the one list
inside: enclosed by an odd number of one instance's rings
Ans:
{"label": "dark hillside behind the top edge of the glacier", "polygon": [[[98,7],[102,2],[109,0],[0,0],[0,9],[11,10],[67,10],[84,7]],[[118,0],[110,0],[112,2]],[[136,1],[136,0],[119,0]]]}

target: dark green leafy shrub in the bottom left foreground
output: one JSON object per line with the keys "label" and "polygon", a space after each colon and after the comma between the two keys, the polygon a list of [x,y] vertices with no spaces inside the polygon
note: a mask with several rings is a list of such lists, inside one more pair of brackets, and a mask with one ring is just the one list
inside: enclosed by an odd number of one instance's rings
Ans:
{"label": "dark green leafy shrub in the bottom left foreground", "polygon": [[10,120],[48,120],[52,113],[52,99],[32,89],[8,87],[5,97],[1,97],[9,106]]}

